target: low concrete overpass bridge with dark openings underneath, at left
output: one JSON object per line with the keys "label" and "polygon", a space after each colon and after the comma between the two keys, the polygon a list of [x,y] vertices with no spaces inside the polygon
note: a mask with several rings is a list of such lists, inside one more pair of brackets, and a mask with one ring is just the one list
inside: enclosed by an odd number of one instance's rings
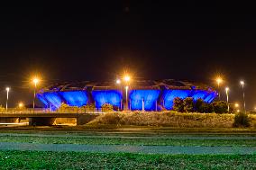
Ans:
{"label": "low concrete overpass bridge with dark openings underneath, at left", "polygon": [[23,112],[0,112],[0,123],[18,123],[22,119],[29,119],[32,126],[50,126],[57,118],[74,118],[77,125],[87,124],[104,112],[46,112],[46,111],[23,111]]}

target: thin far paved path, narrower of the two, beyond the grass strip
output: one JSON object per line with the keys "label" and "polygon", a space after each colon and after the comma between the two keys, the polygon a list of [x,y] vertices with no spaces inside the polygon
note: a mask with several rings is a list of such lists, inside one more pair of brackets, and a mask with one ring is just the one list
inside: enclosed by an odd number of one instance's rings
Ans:
{"label": "thin far paved path, narrower of the two, beyond the grass strip", "polygon": [[121,136],[121,135],[73,135],[73,134],[31,134],[31,133],[0,133],[3,137],[57,137],[85,139],[191,139],[191,140],[255,140],[256,136],[204,136],[204,135],[152,135],[152,136]]}

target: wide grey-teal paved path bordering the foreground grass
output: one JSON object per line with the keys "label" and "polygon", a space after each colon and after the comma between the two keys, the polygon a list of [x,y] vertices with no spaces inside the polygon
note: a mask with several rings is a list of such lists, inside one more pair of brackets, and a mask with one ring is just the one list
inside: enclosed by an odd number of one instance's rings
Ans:
{"label": "wide grey-teal paved path bordering the foreground grass", "polygon": [[143,154],[188,154],[188,155],[251,155],[256,147],[170,147],[170,146],[123,146],[123,145],[75,145],[32,144],[0,142],[0,150],[75,151],[96,153],[143,153]]}

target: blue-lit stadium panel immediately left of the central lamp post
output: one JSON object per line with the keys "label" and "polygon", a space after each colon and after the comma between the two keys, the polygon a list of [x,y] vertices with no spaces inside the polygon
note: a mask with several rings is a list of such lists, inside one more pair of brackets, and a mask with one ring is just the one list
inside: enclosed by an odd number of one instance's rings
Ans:
{"label": "blue-lit stadium panel immediately left of the central lamp post", "polygon": [[96,101],[96,108],[101,108],[105,103],[110,103],[120,108],[122,94],[118,90],[94,90],[92,95]]}

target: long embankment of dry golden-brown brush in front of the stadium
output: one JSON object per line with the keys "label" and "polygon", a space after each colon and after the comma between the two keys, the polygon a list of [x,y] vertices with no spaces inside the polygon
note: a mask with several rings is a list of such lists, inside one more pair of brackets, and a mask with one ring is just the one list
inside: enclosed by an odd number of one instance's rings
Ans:
{"label": "long embankment of dry golden-brown brush in front of the stadium", "polygon": [[88,124],[180,128],[232,128],[233,114],[178,113],[178,112],[107,112]]}

